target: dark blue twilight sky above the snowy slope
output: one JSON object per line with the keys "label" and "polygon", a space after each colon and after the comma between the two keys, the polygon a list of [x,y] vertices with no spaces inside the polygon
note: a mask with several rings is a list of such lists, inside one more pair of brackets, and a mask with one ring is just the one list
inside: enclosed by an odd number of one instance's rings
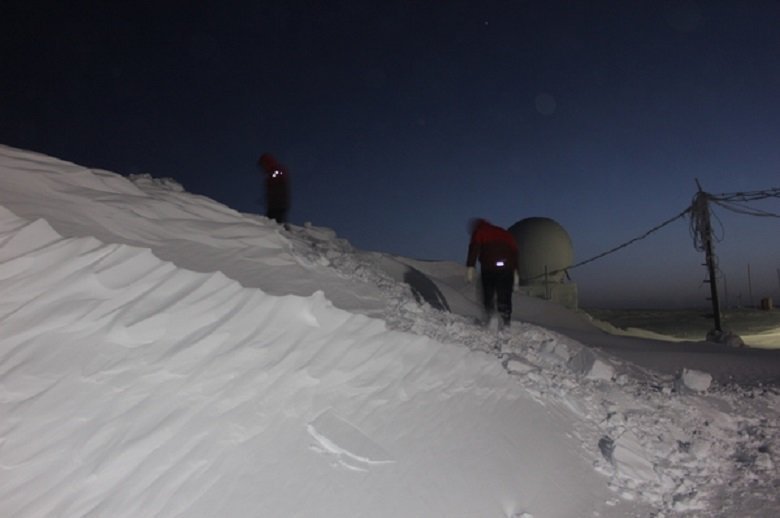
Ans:
{"label": "dark blue twilight sky above the snowy slope", "polygon": [[[457,262],[475,216],[553,218],[581,261],[696,179],[780,186],[774,0],[197,4],[3,2],[0,143],[261,214],[270,151],[292,223]],[[726,302],[780,302],[780,219],[716,216]],[[585,306],[706,306],[702,263],[681,219],[571,276]]]}

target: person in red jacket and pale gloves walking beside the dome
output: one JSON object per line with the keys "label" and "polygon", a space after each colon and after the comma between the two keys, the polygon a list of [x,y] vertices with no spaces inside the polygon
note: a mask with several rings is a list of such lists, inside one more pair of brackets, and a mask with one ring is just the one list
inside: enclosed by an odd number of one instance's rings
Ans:
{"label": "person in red jacket and pale gloves walking beside the dome", "polygon": [[471,241],[466,258],[466,280],[474,280],[479,259],[482,279],[482,304],[489,321],[494,308],[504,325],[512,317],[512,291],[517,282],[517,242],[509,231],[484,219],[471,221]]}

